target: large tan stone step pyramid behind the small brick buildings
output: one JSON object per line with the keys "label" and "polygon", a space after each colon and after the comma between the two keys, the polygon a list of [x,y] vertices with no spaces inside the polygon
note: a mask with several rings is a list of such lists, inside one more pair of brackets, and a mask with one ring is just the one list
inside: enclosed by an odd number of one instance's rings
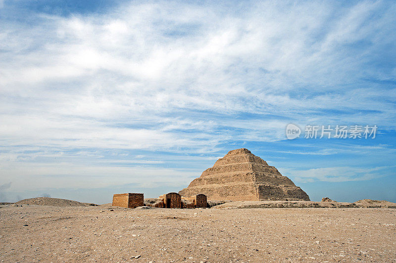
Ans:
{"label": "large tan stone step pyramid behind the small brick buildings", "polygon": [[308,195],[291,179],[245,148],[229,151],[179,194],[205,194],[210,200],[309,201]]}

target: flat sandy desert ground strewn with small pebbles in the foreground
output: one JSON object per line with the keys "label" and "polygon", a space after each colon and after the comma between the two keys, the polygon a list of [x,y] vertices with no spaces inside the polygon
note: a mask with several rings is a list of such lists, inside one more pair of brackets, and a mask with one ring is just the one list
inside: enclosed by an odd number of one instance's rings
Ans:
{"label": "flat sandy desert ground strewn with small pebbles in the foreground", "polygon": [[396,262],[391,208],[1,205],[0,221],[0,262]]}

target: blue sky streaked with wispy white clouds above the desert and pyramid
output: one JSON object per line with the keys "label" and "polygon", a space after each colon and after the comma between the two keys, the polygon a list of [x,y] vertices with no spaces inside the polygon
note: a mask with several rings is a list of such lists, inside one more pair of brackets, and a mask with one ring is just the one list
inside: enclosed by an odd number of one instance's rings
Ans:
{"label": "blue sky streaked with wispy white clouds above the desert and pyramid", "polygon": [[0,0],[0,202],[157,197],[238,148],[312,201],[396,202],[395,14],[395,1]]}

